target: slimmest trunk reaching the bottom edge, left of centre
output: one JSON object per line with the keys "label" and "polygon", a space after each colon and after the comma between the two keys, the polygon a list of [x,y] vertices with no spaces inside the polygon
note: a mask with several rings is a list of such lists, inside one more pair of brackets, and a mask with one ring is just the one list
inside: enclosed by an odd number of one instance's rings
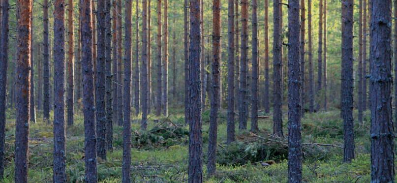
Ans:
{"label": "slimmest trunk reaching the bottom edge, left of centre", "polygon": [[[146,2],[146,1],[145,1]],[[122,128],[122,183],[131,182],[131,11],[132,0],[125,1],[124,123]],[[137,87],[137,86],[135,86]]]}

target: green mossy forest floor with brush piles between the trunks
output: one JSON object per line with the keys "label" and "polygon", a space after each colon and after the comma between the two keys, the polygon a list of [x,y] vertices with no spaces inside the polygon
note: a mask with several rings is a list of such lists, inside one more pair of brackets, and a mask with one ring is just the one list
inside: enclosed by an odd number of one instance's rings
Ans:
{"label": "green mossy forest floor with brush piles between the trunks", "polygon": [[[40,114],[40,112],[38,112]],[[188,126],[183,111],[170,111],[168,117],[149,118],[148,131],[140,131],[139,117],[132,120],[132,169],[135,183],[181,183],[187,180]],[[260,114],[261,116],[266,114]],[[357,114],[356,114],[357,115]],[[355,122],[356,158],[343,163],[343,123],[338,110],[305,114],[302,120],[304,152],[303,180],[308,183],[367,183],[370,182],[369,111],[364,124]],[[5,180],[14,182],[15,114],[7,111]],[[81,113],[67,127],[66,162],[68,183],[84,182],[84,125]],[[153,120],[158,119],[157,123]],[[209,111],[203,115],[203,169],[206,183],[285,183],[287,182],[287,139],[271,134],[272,116],[259,119],[260,131],[238,130],[237,142],[226,145],[226,111],[219,114],[218,155],[216,173],[206,174]],[[250,129],[248,121],[247,129]],[[283,132],[287,132],[284,114]],[[98,160],[98,181],[121,182],[122,127],[113,125],[114,150],[106,160]],[[43,123],[41,115],[31,123],[29,142],[29,180],[31,183],[52,182],[53,127]]]}

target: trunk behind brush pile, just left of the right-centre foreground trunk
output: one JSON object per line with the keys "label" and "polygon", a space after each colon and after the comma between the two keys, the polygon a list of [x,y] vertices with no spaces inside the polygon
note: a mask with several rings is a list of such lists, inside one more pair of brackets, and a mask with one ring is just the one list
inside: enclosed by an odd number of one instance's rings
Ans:
{"label": "trunk behind brush pile, just left of the right-centre foreground trunk", "polygon": [[273,94],[274,94],[274,111],[273,111],[273,133],[279,137],[282,133],[282,63],[281,63],[281,30],[280,30],[280,4],[279,0],[273,2]]}

